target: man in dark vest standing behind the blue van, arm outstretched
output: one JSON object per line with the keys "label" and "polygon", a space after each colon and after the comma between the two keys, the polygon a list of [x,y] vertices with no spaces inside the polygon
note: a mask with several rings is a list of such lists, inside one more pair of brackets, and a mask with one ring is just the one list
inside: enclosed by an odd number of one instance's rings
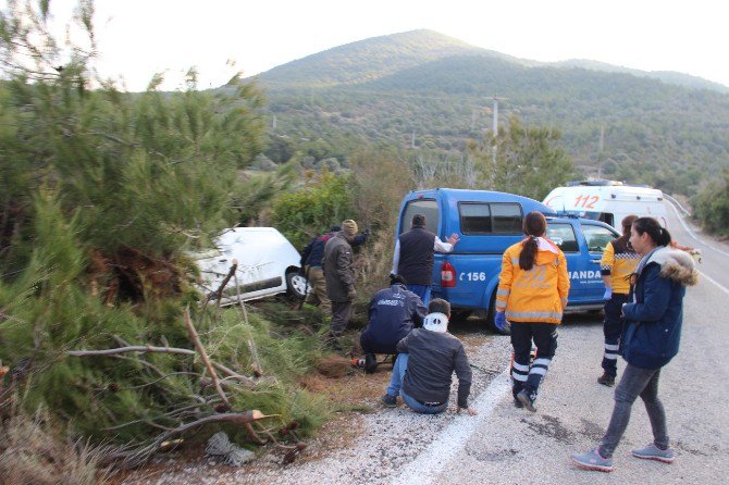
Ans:
{"label": "man in dark vest standing behind the blue van, arm outstretched", "polygon": [[407,279],[408,289],[428,306],[433,283],[433,254],[435,251],[453,251],[456,242],[457,234],[452,234],[448,241],[443,242],[435,234],[425,229],[425,216],[415,214],[410,231],[400,234],[395,242],[393,274],[399,274]]}

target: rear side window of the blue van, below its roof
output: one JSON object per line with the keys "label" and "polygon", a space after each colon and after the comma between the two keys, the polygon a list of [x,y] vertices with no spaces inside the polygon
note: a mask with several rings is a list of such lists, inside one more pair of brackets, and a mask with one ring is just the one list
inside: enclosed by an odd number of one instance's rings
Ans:
{"label": "rear side window of the blue van, below its roof", "polygon": [[461,202],[458,212],[464,234],[521,233],[521,206],[518,203]]}

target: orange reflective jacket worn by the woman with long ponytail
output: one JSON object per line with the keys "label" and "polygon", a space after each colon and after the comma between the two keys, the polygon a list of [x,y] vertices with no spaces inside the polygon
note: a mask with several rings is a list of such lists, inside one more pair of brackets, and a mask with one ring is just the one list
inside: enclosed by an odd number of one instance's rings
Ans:
{"label": "orange reflective jacket worn by the woman with long ponytail", "polygon": [[504,252],[496,290],[496,311],[505,311],[507,320],[561,322],[569,294],[569,275],[565,254],[551,244],[553,250],[536,251],[534,266],[529,271],[519,266],[522,242],[517,242]]}

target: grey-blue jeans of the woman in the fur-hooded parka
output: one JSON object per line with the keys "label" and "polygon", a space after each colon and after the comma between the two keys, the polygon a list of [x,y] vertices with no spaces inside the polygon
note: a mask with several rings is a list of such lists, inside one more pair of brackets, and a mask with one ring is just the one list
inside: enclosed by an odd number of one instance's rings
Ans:
{"label": "grey-blue jeans of the woman in the fur-hooded parka", "polygon": [[645,410],[651,420],[653,428],[653,443],[662,449],[668,447],[668,434],[666,432],[666,412],[658,399],[658,377],[660,369],[641,369],[628,364],[622,372],[618,387],[615,388],[615,408],[610,424],[607,426],[605,436],[600,444],[600,455],[610,458],[618,446],[622,434],[630,421],[630,410],[638,396],[643,399]]}

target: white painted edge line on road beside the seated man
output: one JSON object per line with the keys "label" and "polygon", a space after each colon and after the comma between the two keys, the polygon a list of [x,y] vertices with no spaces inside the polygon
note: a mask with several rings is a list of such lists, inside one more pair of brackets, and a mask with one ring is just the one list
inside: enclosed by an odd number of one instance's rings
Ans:
{"label": "white painted edge line on road beside the seated man", "polygon": [[441,432],[440,437],[422,450],[410,463],[403,468],[393,484],[427,485],[448,465],[466,446],[471,435],[485,422],[496,405],[510,393],[509,368],[498,374],[473,401],[474,416],[461,410],[461,415]]}

